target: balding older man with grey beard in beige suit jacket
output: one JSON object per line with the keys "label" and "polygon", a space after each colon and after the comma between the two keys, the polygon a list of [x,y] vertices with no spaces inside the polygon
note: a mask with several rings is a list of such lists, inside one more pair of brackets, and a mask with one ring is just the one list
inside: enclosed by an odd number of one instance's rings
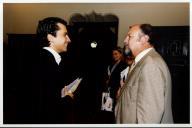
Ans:
{"label": "balding older man with grey beard in beige suit jacket", "polygon": [[171,76],[150,42],[151,34],[151,25],[133,25],[125,39],[135,60],[120,89],[116,123],[173,123]]}

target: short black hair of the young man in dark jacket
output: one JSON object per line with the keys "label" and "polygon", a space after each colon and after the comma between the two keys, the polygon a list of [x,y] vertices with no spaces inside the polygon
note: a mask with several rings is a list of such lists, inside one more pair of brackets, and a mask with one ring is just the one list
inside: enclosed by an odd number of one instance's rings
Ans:
{"label": "short black hair of the young man in dark jacket", "polygon": [[51,34],[56,36],[56,33],[59,30],[59,26],[57,25],[58,23],[61,23],[67,27],[67,22],[58,17],[48,17],[39,21],[36,34],[42,47],[50,45],[47,35]]}

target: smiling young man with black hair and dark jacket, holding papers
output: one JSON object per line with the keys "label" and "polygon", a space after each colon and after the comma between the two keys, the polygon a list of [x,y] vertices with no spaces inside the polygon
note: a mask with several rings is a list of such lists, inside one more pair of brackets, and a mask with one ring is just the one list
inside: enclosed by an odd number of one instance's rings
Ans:
{"label": "smiling young man with black hair and dark jacket, holding papers", "polygon": [[61,76],[59,53],[67,51],[71,42],[67,33],[66,21],[57,17],[48,17],[39,21],[37,37],[40,41],[39,68],[39,123],[72,123],[73,94],[67,92],[61,97],[65,85]]}

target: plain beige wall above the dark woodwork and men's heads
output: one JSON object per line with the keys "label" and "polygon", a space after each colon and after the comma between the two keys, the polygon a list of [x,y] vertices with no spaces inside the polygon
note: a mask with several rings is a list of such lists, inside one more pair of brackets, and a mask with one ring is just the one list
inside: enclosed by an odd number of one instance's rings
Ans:
{"label": "plain beige wall above the dark woodwork and men's heads", "polygon": [[118,45],[128,27],[136,23],[150,23],[154,26],[189,25],[188,3],[119,3],[119,4],[4,4],[4,41],[7,33],[35,33],[39,20],[57,16],[69,20],[73,13],[113,13],[119,17]]}

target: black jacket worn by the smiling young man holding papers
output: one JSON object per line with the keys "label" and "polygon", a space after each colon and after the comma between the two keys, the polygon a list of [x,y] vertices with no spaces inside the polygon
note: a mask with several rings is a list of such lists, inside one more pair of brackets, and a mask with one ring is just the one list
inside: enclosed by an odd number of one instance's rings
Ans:
{"label": "black jacket worn by the smiling young man holding papers", "polygon": [[72,123],[72,99],[61,98],[65,78],[54,56],[45,49],[40,50],[39,71],[39,123]]}

